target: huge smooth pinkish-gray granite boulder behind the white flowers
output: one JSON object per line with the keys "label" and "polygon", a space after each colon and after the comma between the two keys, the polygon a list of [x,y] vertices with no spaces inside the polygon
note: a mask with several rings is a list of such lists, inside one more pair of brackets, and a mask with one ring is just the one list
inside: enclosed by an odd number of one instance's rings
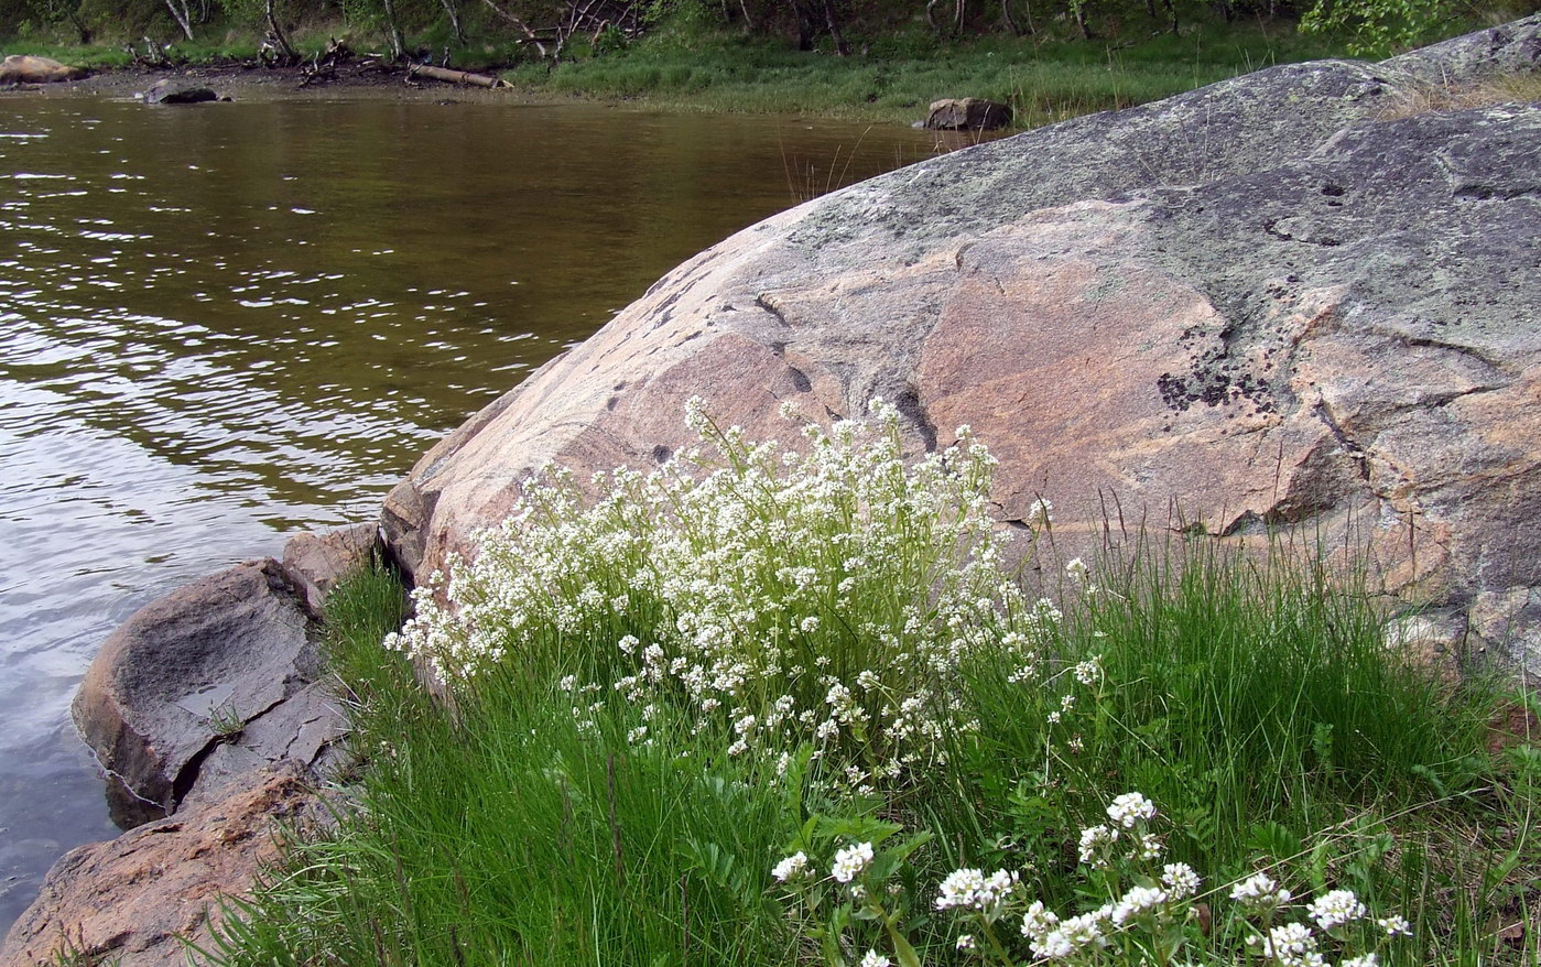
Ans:
{"label": "huge smooth pinkish-gray granite boulder behind the white flowers", "polygon": [[[1450,45],[1452,77],[1533,68],[1538,32]],[[1393,590],[1541,670],[1541,108],[1384,120],[1425,66],[1271,68],[744,229],[424,456],[390,547],[425,574],[546,460],[667,457],[693,394],[783,439],[780,400],[883,396],[917,451],[972,425],[1003,522],[1046,496],[1065,539],[1174,508],[1355,531]]]}

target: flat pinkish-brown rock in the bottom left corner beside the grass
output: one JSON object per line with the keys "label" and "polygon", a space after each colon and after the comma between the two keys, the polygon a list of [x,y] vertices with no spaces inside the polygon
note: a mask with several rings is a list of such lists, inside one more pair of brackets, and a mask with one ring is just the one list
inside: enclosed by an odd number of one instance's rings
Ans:
{"label": "flat pinkish-brown rock in the bottom left corner beside the grass", "polygon": [[0,967],[54,965],[60,949],[99,958],[79,962],[180,967],[186,953],[177,938],[208,945],[219,901],[248,890],[260,864],[276,858],[279,824],[325,821],[307,771],[288,761],[216,802],[77,847],[11,925]]}

